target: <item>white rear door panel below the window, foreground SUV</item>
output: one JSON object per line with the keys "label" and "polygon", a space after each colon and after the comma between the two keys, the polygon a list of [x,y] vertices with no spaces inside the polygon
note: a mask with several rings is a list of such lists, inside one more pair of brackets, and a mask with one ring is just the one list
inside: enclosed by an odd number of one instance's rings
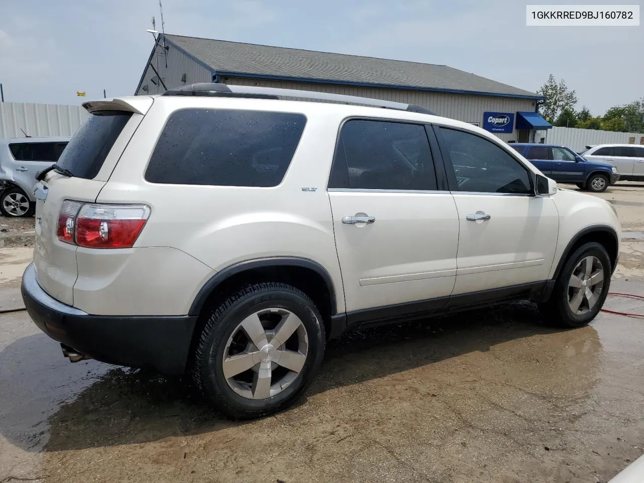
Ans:
{"label": "white rear door panel below the window, foreground SUV", "polygon": [[[451,194],[328,194],[348,312],[451,294],[459,242]],[[342,222],[358,213],[375,223]]]}

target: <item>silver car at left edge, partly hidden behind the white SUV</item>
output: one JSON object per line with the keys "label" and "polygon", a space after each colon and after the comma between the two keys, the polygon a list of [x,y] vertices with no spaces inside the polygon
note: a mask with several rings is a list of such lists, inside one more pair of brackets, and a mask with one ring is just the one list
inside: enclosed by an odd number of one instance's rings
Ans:
{"label": "silver car at left edge, partly hidden behind the white SUV", "polygon": [[15,138],[0,140],[0,212],[32,216],[36,176],[61,156],[70,138]]}

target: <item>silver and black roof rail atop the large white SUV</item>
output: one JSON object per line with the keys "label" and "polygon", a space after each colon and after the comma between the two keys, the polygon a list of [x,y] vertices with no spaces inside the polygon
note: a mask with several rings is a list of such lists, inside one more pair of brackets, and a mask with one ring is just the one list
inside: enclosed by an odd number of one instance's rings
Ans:
{"label": "silver and black roof rail atop the large white SUV", "polygon": [[430,109],[416,104],[404,104],[392,100],[371,99],[370,97],[357,97],[354,95],[330,94],[326,92],[300,91],[295,89],[278,89],[272,87],[235,86],[231,84],[216,84],[198,82],[175,89],[167,90],[163,95],[194,95],[206,97],[246,97],[251,99],[280,99],[281,97],[295,97],[299,99],[312,99],[330,102],[343,102],[348,104],[361,104],[376,108],[397,109],[399,111],[412,111],[422,114],[435,114]]}

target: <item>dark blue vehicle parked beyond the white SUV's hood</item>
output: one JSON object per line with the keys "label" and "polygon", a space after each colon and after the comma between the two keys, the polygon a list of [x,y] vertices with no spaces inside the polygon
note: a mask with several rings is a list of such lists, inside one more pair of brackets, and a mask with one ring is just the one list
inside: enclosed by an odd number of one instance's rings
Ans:
{"label": "dark blue vehicle parked beyond the white SUV's hood", "polygon": [[574,183],[580,189],[601,193],[620,179],[616,167],[585,160],[565,146],[524,142],[513,142],[510,146],[558,183]]}

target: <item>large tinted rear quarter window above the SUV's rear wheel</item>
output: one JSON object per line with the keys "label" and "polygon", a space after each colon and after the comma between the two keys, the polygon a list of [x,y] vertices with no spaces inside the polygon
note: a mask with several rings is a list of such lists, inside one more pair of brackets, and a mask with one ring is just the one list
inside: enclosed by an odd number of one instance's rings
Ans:
{"label": "large tinted rear quarter window above the SUV's rear wheel", "polygon": [[152,183],[270,187],[289,168],[307,119],[233,109],[172,113],[147,166]]}

